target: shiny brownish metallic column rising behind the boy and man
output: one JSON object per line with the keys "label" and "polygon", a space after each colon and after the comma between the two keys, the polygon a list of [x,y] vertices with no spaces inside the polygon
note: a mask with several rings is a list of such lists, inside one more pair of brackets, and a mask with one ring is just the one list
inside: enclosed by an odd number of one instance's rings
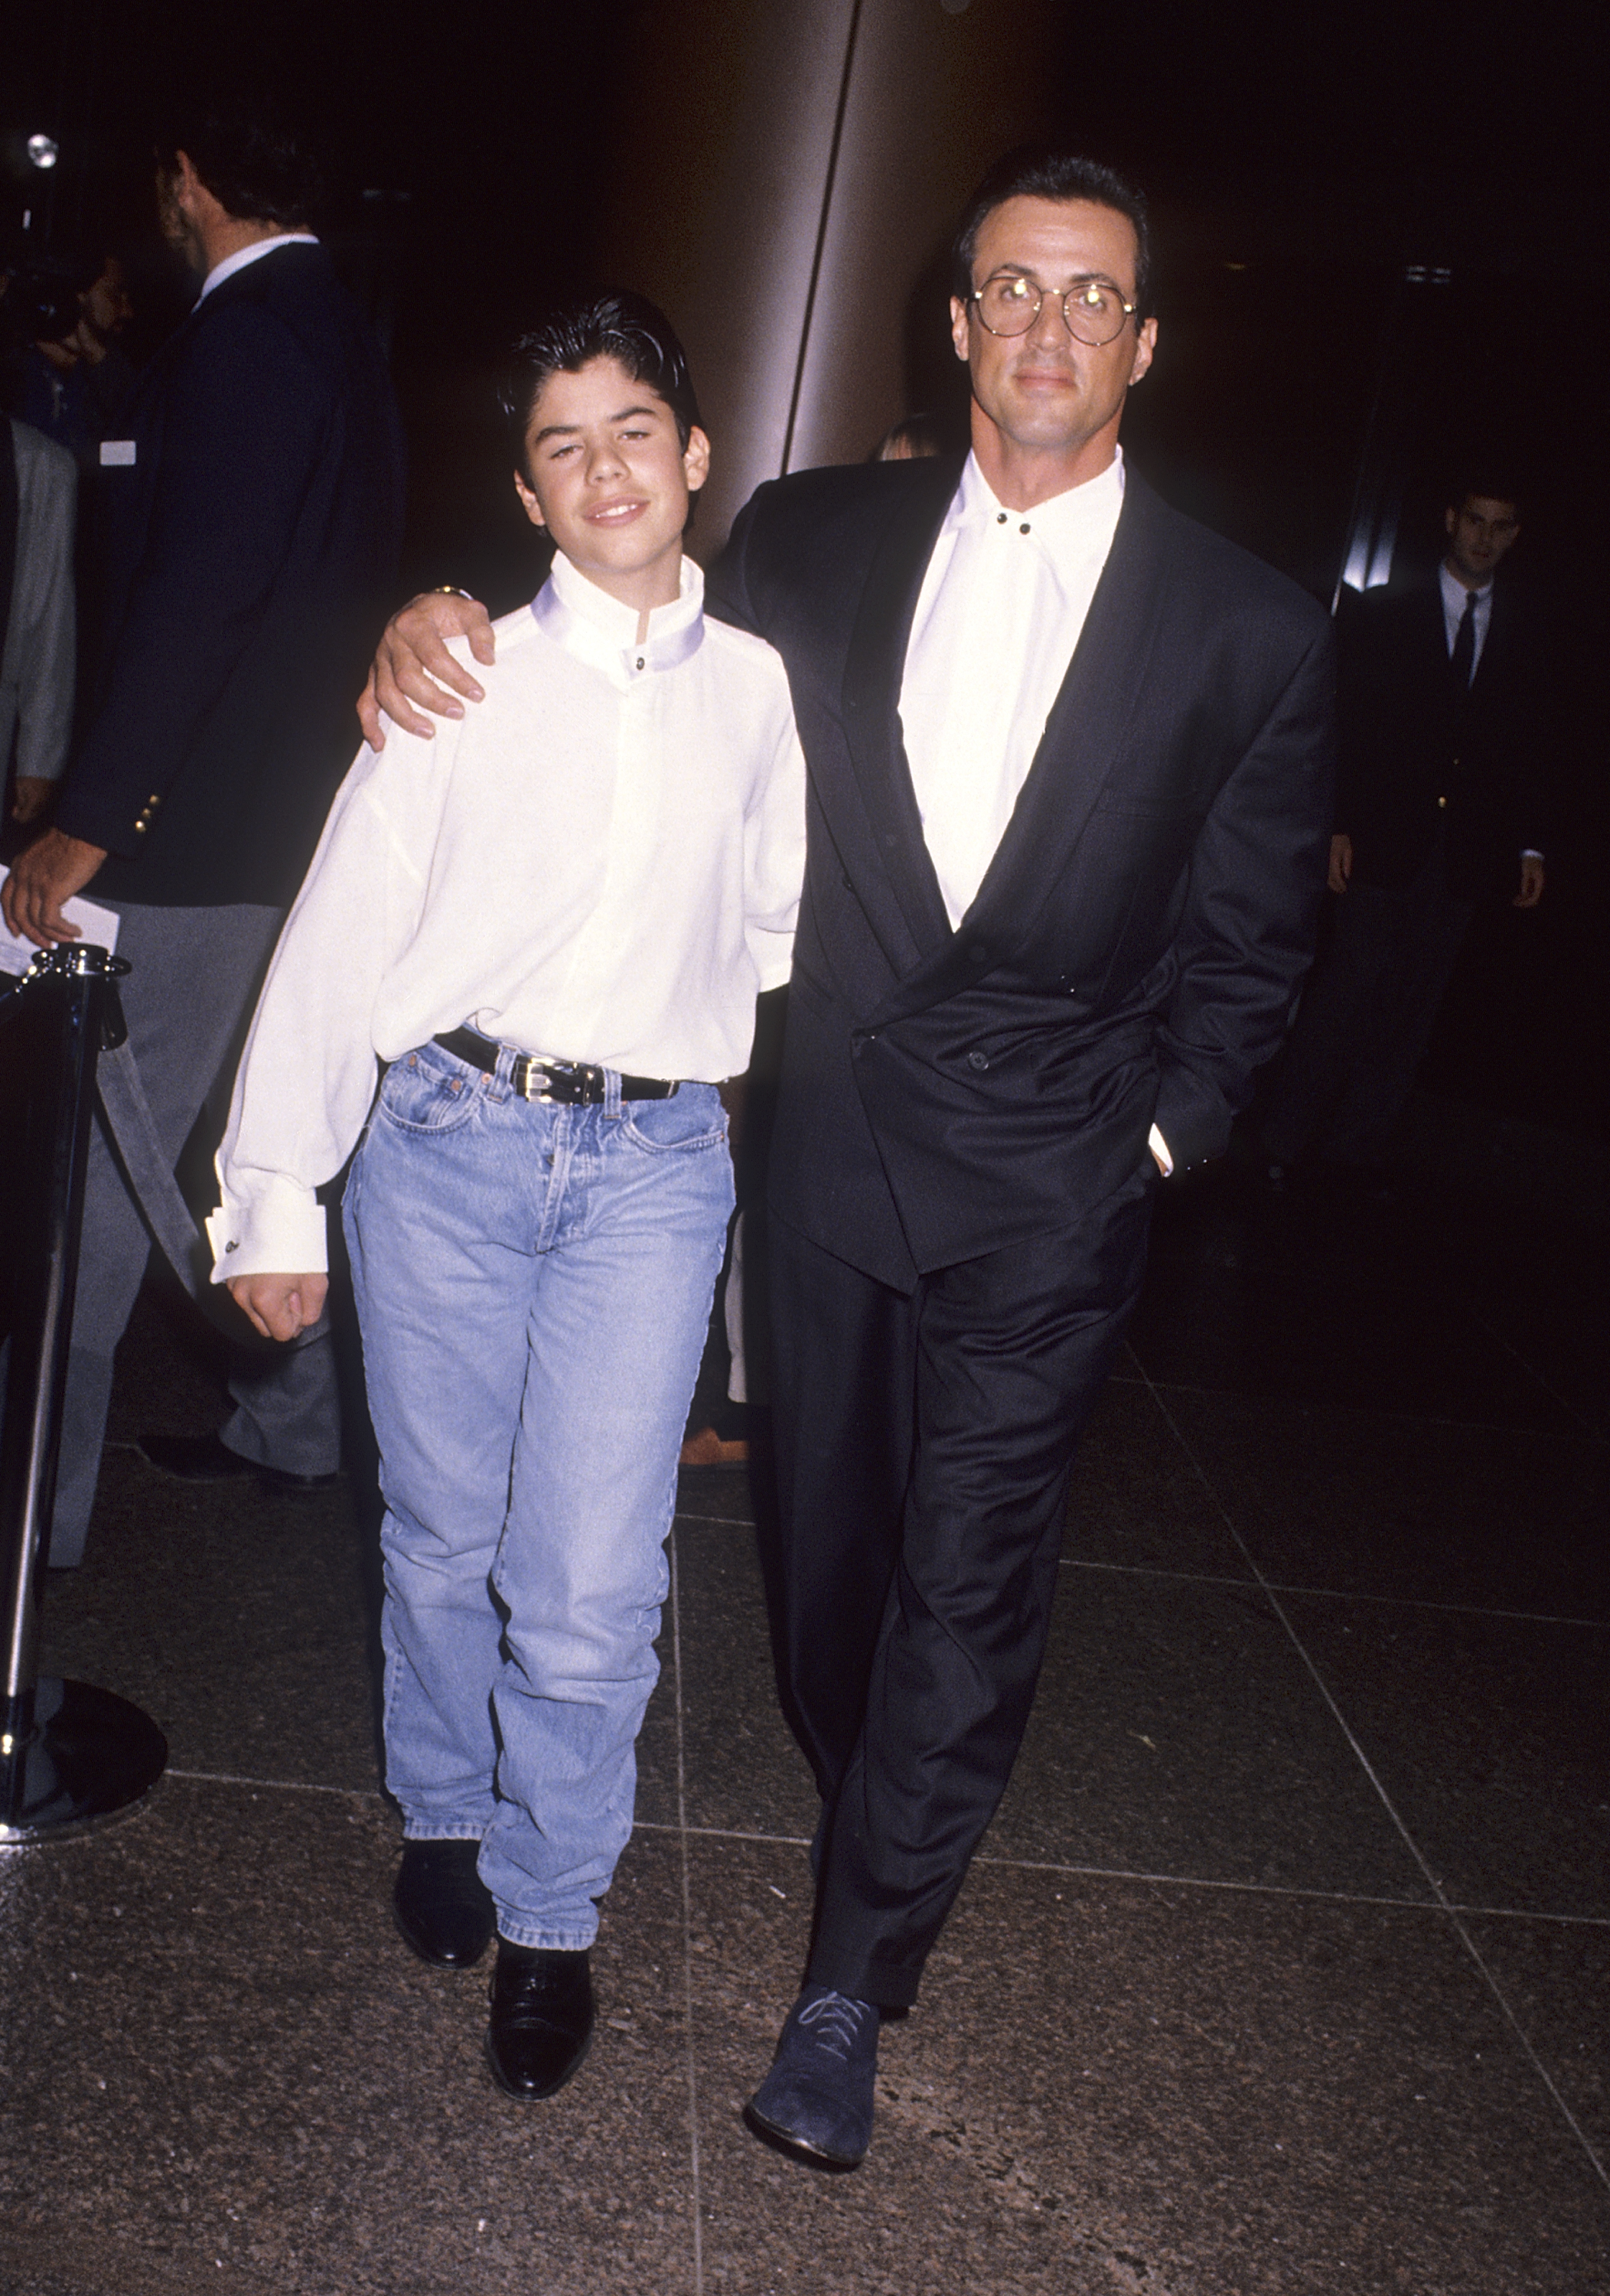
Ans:
{"label": "shiny brownish metallic column rising behind the boy and man", "polygon": [[988,161],[1047,126],[1056,9],[650,0],[638,28],[595,255],[687,342],[717,450],[707,556],[760,480],[861,459],[946,374],[949,230]]}

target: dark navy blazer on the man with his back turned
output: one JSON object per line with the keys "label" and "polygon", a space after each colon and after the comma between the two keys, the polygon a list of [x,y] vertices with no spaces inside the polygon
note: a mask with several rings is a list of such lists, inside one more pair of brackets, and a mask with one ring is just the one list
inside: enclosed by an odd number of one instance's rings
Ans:
{"label": "dark navy blazer on the man with his back turned", "polygon": [[103,900],[287,902],[358,742],[402,535],[379,347],[319,246],[223,280],[101,471],[87,739],[57,822]]}

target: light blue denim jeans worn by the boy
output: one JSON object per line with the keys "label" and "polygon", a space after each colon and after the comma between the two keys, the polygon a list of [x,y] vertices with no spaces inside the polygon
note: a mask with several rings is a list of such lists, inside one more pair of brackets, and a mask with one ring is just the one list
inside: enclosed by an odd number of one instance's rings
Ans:
{"label": "light blue denim jeans worn by the boy", "polygon": [[514,1945],[576,1952],[632,1835],[666,1531],[733,1210],[712,1084],[567,1109],[441,1045],[345,1201],[386,1520],[386,1784],[478,1839]]}

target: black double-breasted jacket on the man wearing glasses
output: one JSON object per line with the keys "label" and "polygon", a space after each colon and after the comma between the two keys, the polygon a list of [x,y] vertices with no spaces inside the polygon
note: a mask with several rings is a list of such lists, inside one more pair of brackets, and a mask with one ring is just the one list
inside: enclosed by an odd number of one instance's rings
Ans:
{"label": "black double-breasted jacket on the man wearing glasses", "polygon": [[1013,820],[951,932],[898,698],[955,461],[763,487],[714,611],[788,664],[811,785],[772,1203],[884,1283],[1068,1226],[1162,1127],[1215,1155],[1314,946],[1330,622],[1130,475]]}

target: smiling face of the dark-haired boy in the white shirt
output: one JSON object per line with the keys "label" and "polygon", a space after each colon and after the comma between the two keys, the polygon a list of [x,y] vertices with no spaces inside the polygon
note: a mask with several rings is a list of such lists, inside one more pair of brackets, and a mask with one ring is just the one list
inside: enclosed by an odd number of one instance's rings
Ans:
{"label": "smiling face of the dark-haired boy in the white shirt", "polygon": [[579,574],[629,606],[678,595],[689,496],[710,471],[700,429],[687,448],[666,402],[618,358],[551,374],[526,422],[514,475],[533,526],[547,526]]}

